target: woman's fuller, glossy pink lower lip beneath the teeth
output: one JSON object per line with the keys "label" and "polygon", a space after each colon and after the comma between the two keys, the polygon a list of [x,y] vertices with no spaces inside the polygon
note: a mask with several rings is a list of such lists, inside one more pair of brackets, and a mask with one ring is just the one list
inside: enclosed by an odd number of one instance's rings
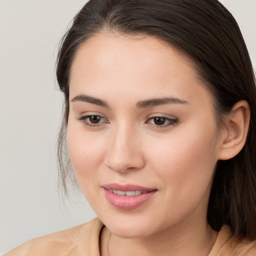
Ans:
{"label": "woman's fuller, glossy pink lower lip beneath the teeth", "polygon": [[148,191],[138,195],[118,195],[104,188],[104,194],[108,202],[118,209],[130,210],[138,207],[142,203],[150,199],[157,190]]}

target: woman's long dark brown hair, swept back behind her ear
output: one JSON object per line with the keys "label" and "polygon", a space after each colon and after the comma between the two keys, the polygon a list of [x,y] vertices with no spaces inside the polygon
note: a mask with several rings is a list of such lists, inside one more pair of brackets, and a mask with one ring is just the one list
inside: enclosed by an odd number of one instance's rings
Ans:
{"label": "woman's long dark brown hair, swept back behind her ear", "polygon": [[236,234],[256,239],[255,77],[240,29],[217,0],[90,0],[77,13],[61,41],[56,66],[65,96],[58,137],[59,177],[65,193],[67,178],[75,183],[65,145],[70,66],[80,44],[101,31],[152,35],[188,56],[215,97],[218,127],[237,101],[249,103],[246,143],[232,159],[218,161],[207,218],[215,230],[228,224]]}

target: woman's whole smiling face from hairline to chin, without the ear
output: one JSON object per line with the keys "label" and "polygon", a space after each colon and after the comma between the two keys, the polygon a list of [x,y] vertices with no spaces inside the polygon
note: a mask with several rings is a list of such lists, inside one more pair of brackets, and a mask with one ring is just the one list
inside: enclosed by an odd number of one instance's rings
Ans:
{"label": "woman's whole smiling face from hairline to chin, without the ear", "polygon": [[221,136],[191,62],[151,36],[97,34],[75,55],[69,92],[74,174],[112,233],[206,224]]}

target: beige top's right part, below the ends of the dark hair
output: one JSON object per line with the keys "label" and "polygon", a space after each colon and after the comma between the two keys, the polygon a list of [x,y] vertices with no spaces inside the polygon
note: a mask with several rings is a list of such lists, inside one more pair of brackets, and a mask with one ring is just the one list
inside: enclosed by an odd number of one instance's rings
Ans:
{"label": "beige top's right part, below the ends of the dark hair", "polygon": [[256,256],[256,241],[233,235],[225,225],[219,231],[209,256]]}

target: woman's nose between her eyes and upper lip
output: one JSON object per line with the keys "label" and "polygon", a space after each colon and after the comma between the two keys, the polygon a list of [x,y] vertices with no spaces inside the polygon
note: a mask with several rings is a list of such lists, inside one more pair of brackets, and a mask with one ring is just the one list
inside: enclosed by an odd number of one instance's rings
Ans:
{"label": "woman's nose between her eyes and upper lip", "polygon": [[123,173],[138,170],[144,166],[141,136],[138,131],[121,126],[112,131],[109,144],[105,157],[105,164],[108,168]]}

